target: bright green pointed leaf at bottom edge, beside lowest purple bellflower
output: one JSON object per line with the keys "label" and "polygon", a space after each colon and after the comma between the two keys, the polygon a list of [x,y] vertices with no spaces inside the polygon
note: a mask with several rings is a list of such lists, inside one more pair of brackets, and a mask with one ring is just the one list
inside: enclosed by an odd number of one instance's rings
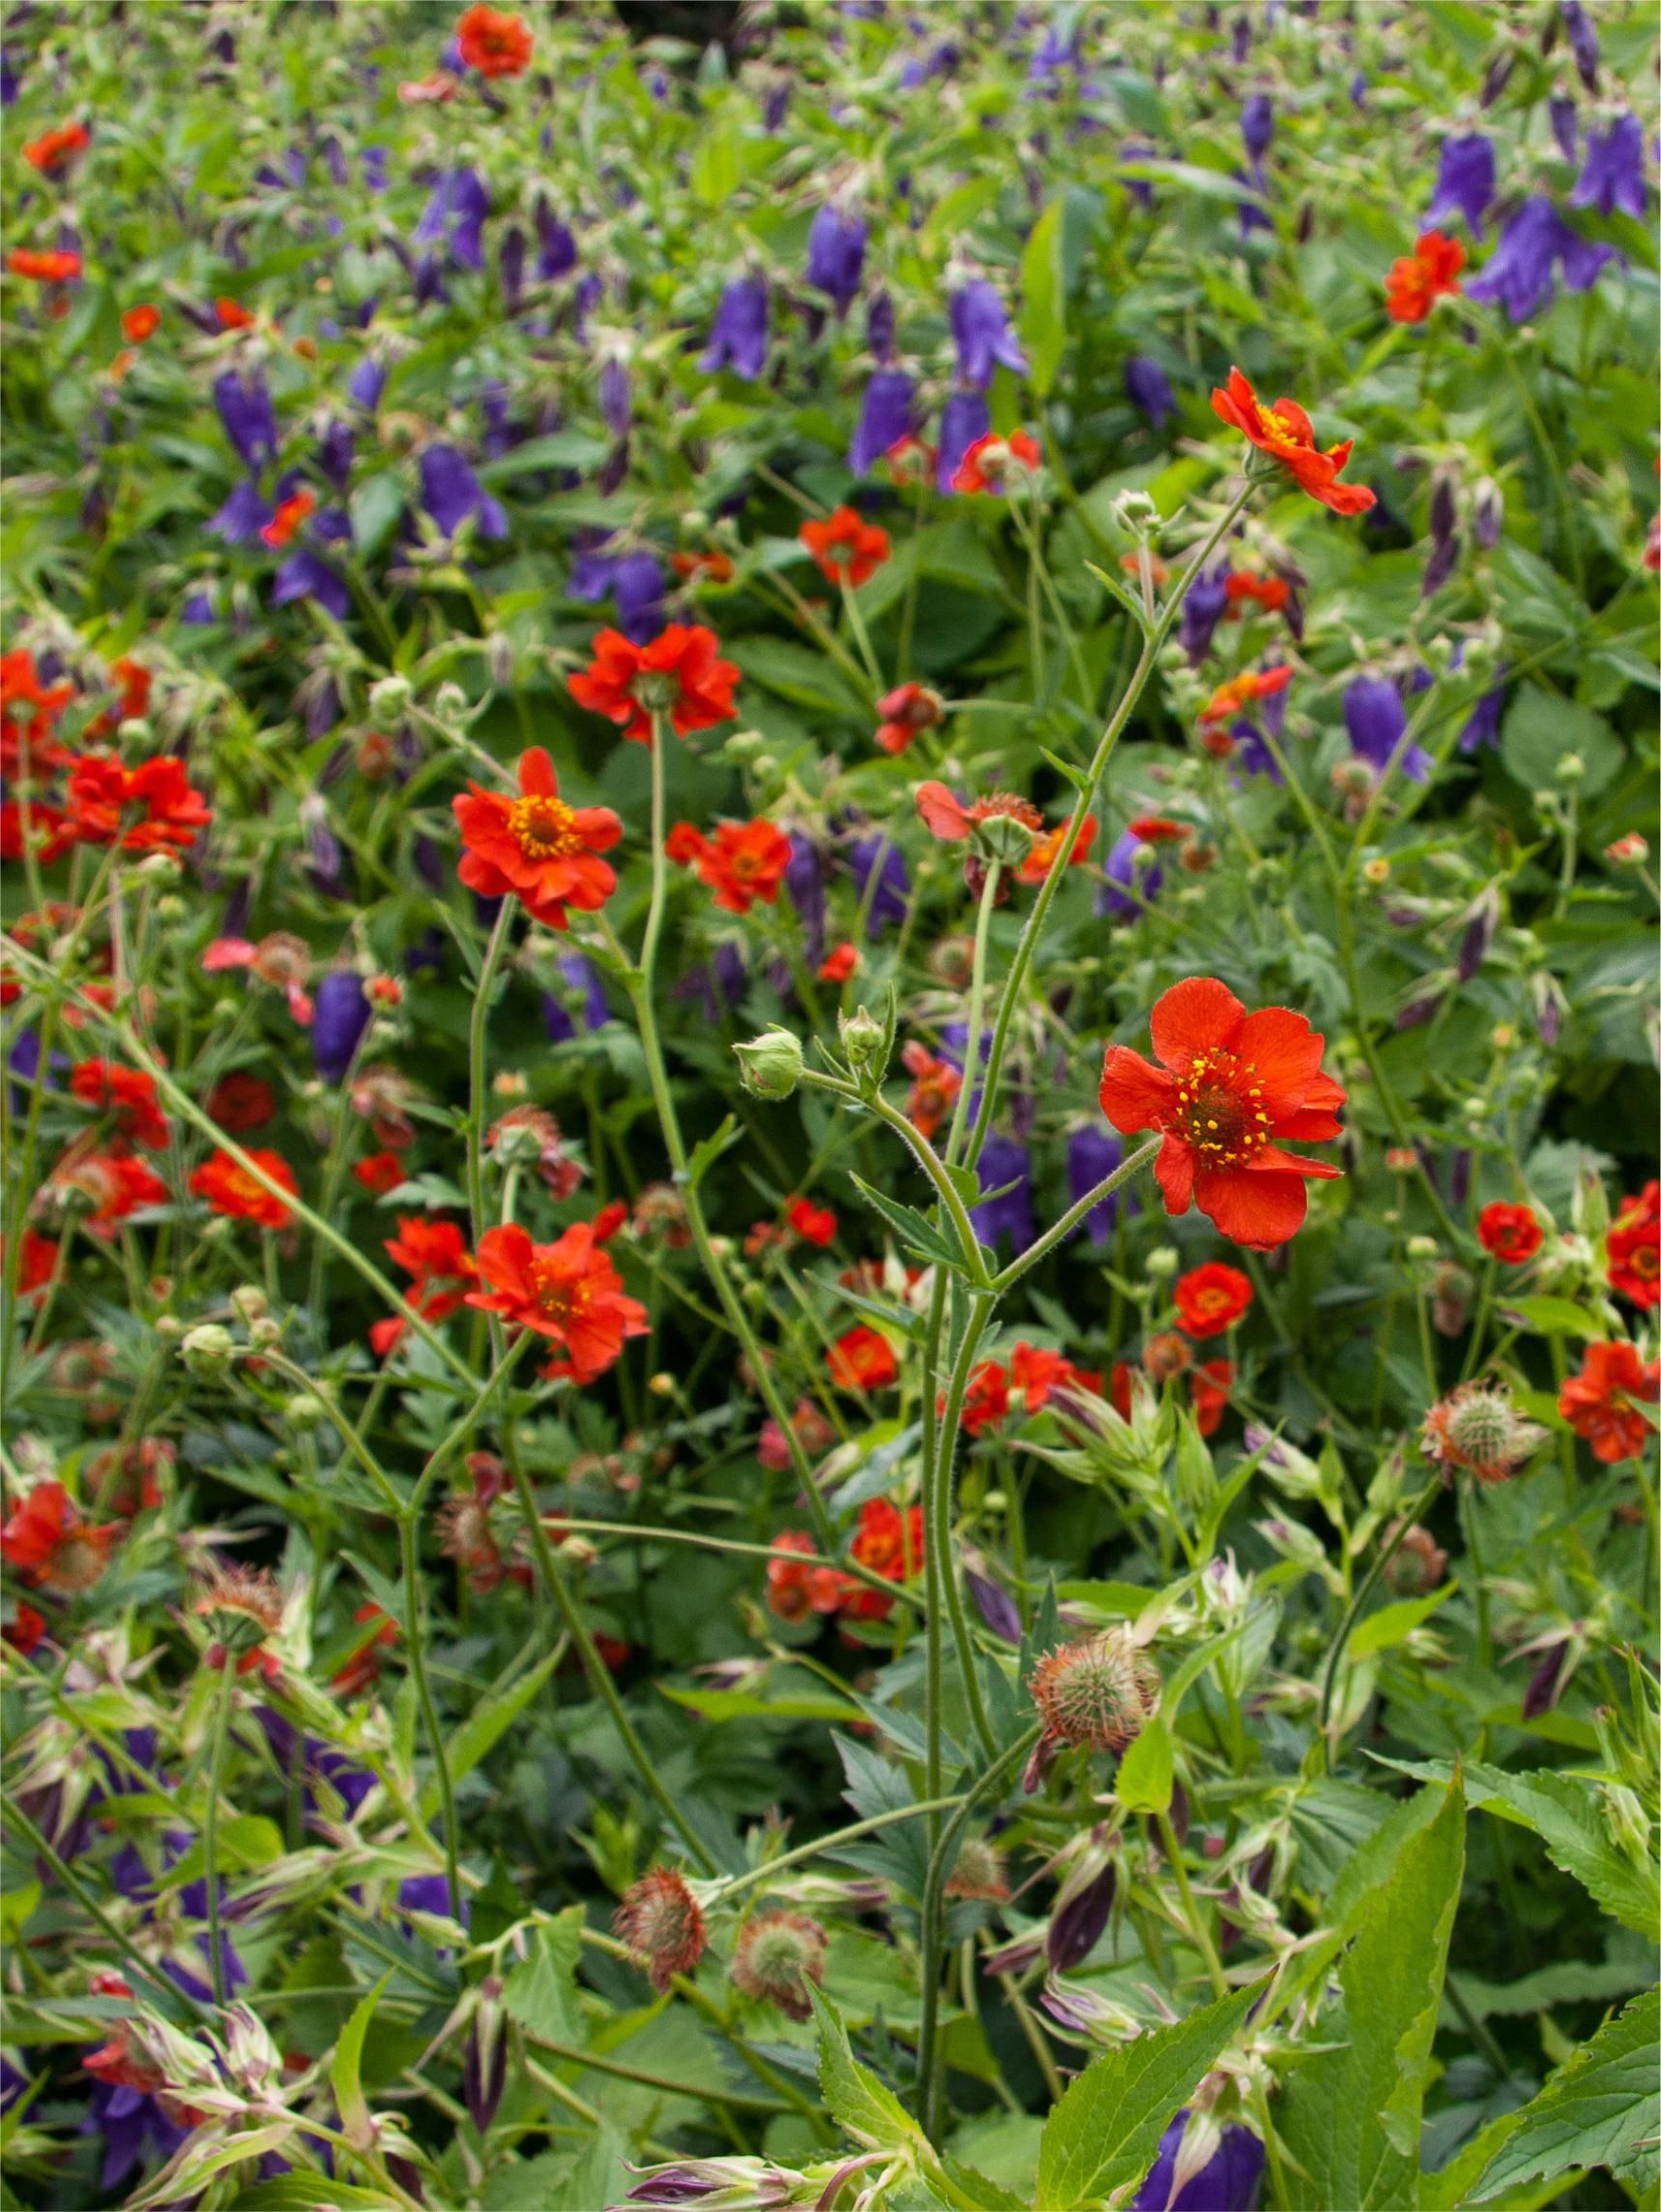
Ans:
{"label": "bright green pointed leaf at bottom edge, beside lowest purple bellflower", "polygon": [[1261,1989],[1236,1989],[1095,2059],[1044,2121],[1037,2212],[1093,2212],[1146,2174],[1172,2112],[1216,2064]]}

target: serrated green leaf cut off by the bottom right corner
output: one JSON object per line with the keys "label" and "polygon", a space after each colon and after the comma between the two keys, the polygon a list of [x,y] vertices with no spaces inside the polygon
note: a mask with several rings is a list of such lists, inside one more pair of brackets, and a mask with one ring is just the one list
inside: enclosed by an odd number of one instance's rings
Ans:
{"label": "serrated green leaf cut off by the bottom right corner", "polygon": [[[1646,1989],[1626,2011],[1561,2066],[1519,2112],[1477,2177],[1464,2177],[1464,2201],[1491,2203],[1528,2181],[1550,2181],[1586,2166],[1615,2172],[1654,2163],[1661,2132],[1657,2039],[1661,1993]],[[1648,2177],[1639,2174],[1639,2188]]]}

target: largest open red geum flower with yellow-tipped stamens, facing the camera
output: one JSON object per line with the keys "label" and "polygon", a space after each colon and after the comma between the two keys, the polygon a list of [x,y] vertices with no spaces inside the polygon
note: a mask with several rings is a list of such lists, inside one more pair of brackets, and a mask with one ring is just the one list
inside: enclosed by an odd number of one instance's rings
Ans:
{"label": "largest open red geum flower with yellow-tipped stamens, facing the camera", "polygon": [[1108,1046],[1101,1110],[1121,1135],[1163,1135],[1155,1177],[1168,1214],[1192,1199],[1223,1237],[1270,1250],[1303,1225],[1305,1177],[1340,1172],[1281,1148],[1340,1135],[1345,1093],[1320,1073],[1325,1042],[1300,1013],[1247,1013],[1216,978],[1192,975],[1152,1011],[1159,1066]]}

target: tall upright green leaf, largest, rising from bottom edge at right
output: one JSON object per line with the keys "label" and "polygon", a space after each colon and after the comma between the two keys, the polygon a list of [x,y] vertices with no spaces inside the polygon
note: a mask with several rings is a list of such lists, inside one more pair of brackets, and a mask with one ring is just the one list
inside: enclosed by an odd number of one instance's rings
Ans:
{"label": "tall upright green leaf, largest, rising from bottom edge at right", "polygon": [[1464,1794],[1451,1785],[1435,1816],[1373,1889],[1338,1980],[1347,2033],[1287,2081],[1281,2135],[1292,2152],[1294,2208],[1373,2212],[1411,2205],[1431,2044],[1442,2004],[1453,1913],[1464,1874]]}

